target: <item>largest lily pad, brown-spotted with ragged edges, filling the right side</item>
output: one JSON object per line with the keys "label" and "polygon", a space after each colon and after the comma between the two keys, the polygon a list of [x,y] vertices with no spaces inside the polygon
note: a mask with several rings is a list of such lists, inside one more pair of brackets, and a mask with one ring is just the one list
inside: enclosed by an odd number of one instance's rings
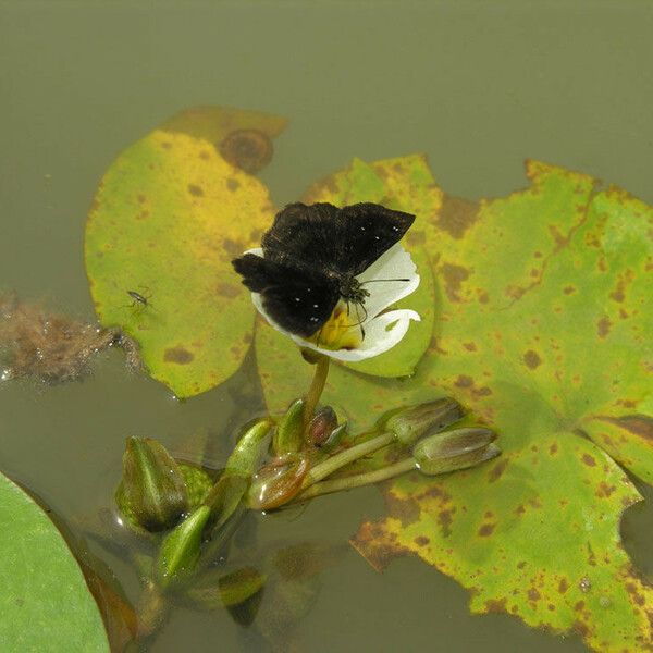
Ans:
{"label": "largest lily pad, brown-spotted with ragged edges, filling the right side", "polygon": [[[417,553],[473,590],[475,612],[575,630],[601,651],[650,645],[653,596],[618,533],[639,495],[615,460],[653,481],[653,210],[534,161],[525,190],[477,202],[438,189],[421,157],[369,169],[384,184],[374,199],[415,202],[434,329],[411,378],[333,366],[323,402],[365,429],[384,410],[451,395],[500,433],[504,455],[440,480],[387,483],[389,516],[353,542],[375,565]],[[331,181],[346,185],[347,171]],[[276,409],[305,392],[311,370],[269,331],[257,329],[257,360]]]}

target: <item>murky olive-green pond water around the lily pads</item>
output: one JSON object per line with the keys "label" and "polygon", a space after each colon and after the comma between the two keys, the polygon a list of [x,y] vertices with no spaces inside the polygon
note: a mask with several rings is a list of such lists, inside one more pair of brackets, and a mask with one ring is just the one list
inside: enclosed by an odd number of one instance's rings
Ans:
{"label": "murky olive-green pond water around the lily pads", "polygon": [[[412,151],[429,155],[443,188],[470,199],[525,186],[529,157],[653,202],[651,2],[153,7],[0,3],[0,287],[93,319],[82,243],[97,182],[126,145],[194,104],[288,118],[262,175],[278,206],[353,156]],[[182,404],[111,353],[82,383],[4,384],[0,468],[65,519],[90,514],[113,492],[128,434],[175,451],[208,430],[223,459],[235,424],[258,408],[243,405],[243,375]],[[375,490],[358,490],[262,518],[256,537],[262,545],[341,544],[382,509]],[[652,510],[640,505],[624,527],[649,574],[652,526]],[[135,596],[136,579],[109,562]],[[322,577],[298,649],[583,650],[576,637],[504,615],[471,617],[466,604],[463,589],[417,559],[379,576],[349,551]],[[180,608],[151,650],[182,645],[266,650],[226,613]]]}

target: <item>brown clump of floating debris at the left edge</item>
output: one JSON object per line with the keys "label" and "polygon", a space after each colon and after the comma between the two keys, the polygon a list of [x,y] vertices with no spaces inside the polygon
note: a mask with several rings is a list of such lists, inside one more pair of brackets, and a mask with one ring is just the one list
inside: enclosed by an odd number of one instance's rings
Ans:
{"label": "brown clump of floating debris at the left edge", "polygon": [[4,378],[35,377],[48,383],[74,381],[88,371],[96,354],[118,345],[132,370],[141,368],[136,343],[118,329],[100,329],[38,304],[21,303],[15,293],[0,294],[0,355]]}

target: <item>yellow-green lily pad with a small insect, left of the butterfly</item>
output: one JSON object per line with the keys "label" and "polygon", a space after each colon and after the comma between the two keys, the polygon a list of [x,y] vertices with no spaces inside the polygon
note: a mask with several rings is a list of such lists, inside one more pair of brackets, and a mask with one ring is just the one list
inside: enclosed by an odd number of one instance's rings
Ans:
{"label": "yellow-green lily pad with a small insect, left of the butterfly", "polygon": [[123,151],[96,194],[85,256],[97,313],[180,397],[227,379],[249,348],[254,308],[231,260],[260,242],[274,208],[237,165],[264,163],[282,127],[252,112],[184,112]]}

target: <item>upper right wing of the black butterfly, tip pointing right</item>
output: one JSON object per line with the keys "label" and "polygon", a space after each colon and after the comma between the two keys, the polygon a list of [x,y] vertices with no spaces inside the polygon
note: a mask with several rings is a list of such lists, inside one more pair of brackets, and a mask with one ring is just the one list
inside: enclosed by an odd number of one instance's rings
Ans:
{"label": "upper right wing of the black butterfly, tip pointing right", "polygon": [[337,251],[334,255],[338,273],[357,276],[367,270],[404,237],[414,221],[415,215],[410,213],[372,202],[342,208],[336,218]]}

